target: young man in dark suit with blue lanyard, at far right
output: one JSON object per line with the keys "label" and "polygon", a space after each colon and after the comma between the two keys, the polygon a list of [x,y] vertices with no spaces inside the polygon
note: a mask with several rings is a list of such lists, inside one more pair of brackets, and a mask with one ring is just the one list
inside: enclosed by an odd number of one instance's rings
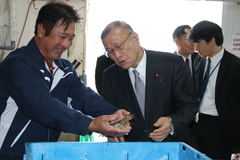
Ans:
{"label": "young man in dark suit with blue lanyard, at far right", "polygon": [[232,148],[240,144],[240,59],[223,48],[222,29],[213,22],[197,23],[189,39],[203,57],[195,60],[194,68],[199,149],[210,158],[229,160]]}

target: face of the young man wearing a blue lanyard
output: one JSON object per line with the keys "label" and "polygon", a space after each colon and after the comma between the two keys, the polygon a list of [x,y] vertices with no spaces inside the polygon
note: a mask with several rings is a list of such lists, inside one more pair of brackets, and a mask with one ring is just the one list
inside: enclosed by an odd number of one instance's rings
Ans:
{"label": "face of the young man wearing a blue lanyard", "polygon": [[207,43],[205,40],[201,39],[197,43],[194,43],[196,46],[196,51],[201,55],[201,57],[213,57],[215,55],[213,41],[214,39]]}

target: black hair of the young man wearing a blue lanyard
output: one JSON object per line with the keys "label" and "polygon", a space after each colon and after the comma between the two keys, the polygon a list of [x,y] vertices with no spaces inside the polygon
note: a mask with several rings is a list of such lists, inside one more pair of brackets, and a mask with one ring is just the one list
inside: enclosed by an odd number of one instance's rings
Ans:
{"label": "black hair of the young man wearing a blue lanyard", "polygon": [[207,43],[215,38],[216,44],[221,46],[223,44],[223,33],[222,29],[216,23],[210,21],[200,21],[190,30],[188,37],[192,42],[199,42],[205,40]]}

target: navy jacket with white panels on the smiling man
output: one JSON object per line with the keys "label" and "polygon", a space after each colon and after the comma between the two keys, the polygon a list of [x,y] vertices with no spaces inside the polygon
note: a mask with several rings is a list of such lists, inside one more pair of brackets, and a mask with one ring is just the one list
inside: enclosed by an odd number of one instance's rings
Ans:
{"label": "navy jacket with white panels on the smiling man", "polygon": [[32,39],[0,64],[1,160],[22,159],[25,142],[57,141],[61,131],[89,134],[92,117],[117,111],[86,87],[69,61],[54,63],[52,77]]}

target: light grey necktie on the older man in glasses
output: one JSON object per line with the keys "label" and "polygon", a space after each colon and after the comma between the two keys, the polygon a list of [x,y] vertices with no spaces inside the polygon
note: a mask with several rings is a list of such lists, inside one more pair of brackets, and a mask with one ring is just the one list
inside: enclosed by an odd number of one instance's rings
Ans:
{"label": "light grey necktie on the older man in glasses", "polygon": [[142,115],[144,117],[144,109],[145,109],[145,86],[142,79],[139,77],[139,72],[137,70],[133,70],[135,76],[135,94],[138,100],[138,104],[140,106]]}

